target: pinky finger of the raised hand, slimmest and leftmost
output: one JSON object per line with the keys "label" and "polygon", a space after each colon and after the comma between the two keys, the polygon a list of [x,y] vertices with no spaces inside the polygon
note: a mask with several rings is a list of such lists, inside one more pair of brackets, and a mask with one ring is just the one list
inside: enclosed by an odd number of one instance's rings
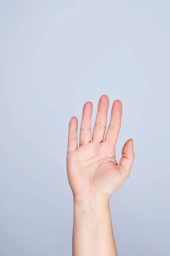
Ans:
{"label": "pinky finger of the raised hand, slimmest and leftmost", "polygon": [[69,122],[69,129],[68,129],[68,153],[76,150],[78,147],[77,126],[78,126],[77,117],[72,116]]}

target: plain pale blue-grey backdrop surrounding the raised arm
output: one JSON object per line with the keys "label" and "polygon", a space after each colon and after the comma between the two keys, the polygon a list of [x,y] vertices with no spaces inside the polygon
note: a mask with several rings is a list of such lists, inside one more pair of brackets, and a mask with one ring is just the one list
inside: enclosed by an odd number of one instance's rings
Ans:
{"label": "plain pale blue-grey backdrop surrounding the raised arm", "polygon": [[111,197],[119,256],[170,253],[170,1],[0,0],[0,256],[71,256],[68,122],[123,105],[129,179]]}

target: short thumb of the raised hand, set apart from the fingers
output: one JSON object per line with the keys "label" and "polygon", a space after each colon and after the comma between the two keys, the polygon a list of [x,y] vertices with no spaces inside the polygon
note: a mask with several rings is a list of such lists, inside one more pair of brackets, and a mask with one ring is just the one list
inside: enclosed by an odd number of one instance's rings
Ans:
{"label": "short thumb of the raised hand, set apart from the fingers", "polygon": [[120,163],[118,164],[118,168],[122,175],[125,177],[125,180],[130,175],[130,169],[133,165],[133,161],[135,159],[135,155],[133,152],[133,140],[127,140],[125,145],[122,148],[122,158],[120,159]]}

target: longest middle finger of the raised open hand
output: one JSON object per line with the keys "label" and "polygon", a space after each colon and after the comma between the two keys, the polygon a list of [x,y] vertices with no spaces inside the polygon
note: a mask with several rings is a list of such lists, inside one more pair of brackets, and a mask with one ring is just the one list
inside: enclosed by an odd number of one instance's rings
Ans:
{"label": "longest middle finger of the raised open hand", "polygon": [[97,140],[98,142],[103,141],[107,123],[108,107],[109,98],[106,95],[102,95],[99,99],[96,122],[94,124],[94,130],[92,134],[92,140]]}

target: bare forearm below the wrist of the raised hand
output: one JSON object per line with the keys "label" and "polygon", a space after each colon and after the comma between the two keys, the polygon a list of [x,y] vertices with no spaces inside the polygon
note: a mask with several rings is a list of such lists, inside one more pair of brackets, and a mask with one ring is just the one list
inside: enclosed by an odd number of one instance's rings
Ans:
{"label": "bare forearm below the wrist of the raised hand", "polygon": [[73,256],[117,256],[109,200],[74,201]]}

